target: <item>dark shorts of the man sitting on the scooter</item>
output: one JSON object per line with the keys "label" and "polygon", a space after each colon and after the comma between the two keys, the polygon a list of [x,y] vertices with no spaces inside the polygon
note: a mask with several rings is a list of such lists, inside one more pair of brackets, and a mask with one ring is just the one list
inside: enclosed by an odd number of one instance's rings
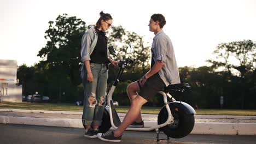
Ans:
{"label": "dark shorts of the man sitting on the scooter", "polygon": [[138,94],[147,101],[153,98],[158,91],[162,91],[165,88],[165,83],[162,81],[158,73],[149,77],[143,87],[139,84],[139,80],[137,82],[140,89]]}

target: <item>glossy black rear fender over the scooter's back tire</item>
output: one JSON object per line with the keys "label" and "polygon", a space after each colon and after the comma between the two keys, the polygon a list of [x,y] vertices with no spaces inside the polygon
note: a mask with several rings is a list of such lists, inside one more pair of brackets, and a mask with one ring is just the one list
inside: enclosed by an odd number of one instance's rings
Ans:
{"label": "glossy black rear fender over the scooter's back tire", "polygon": [[[172,112],[173,110],[174,111],[178,110],[178,111],[184,112],[187,115],[191,115],[191,114],[196,115],[196,112],[193,109],[193,107],[183,101],[173,101],[169,104],[169,106]],[[165,108],[165,106],[163,108]]]}

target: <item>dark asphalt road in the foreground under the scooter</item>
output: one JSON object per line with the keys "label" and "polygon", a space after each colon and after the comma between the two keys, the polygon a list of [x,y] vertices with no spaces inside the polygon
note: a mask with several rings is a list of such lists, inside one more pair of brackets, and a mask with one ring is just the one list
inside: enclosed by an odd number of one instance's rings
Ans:
{"label": "dark asphalt road in the foreground under the scooter", "polygon": [[[43,127],[37,125],[0,124],[0,143],[112,143],[83,136],[82,128]],[[155,132],[125,131],[119,143],[256,143],[256,136],[243,135],[188,135],[182,139],[156,142]],[[160,138],[166,138],[160,133]]]}

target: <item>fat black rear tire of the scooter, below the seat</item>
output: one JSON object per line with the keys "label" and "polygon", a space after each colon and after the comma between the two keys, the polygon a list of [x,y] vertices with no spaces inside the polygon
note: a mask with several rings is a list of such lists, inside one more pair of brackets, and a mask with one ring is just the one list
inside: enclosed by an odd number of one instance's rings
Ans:
{"label": "fat black rear tire of the scooter, below the seat", "polygon": [[[168,137],[172,137],[174,139],[179,139],[189,135],[195,124],[194,114],[185,113],[184,110],[176,109],[176,107],[170,106],[170,109],[174,122],[160,128],[160,131],[163,131]],[[165,123],[167,118],[168,112],[164,106],[159,112],[158,124]]]}

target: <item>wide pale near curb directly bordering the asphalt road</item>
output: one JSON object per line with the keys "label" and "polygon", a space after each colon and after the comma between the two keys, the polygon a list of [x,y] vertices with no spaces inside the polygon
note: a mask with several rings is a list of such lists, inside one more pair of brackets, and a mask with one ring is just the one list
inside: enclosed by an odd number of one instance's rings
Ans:
{"label": "wide pale near curb directly bordering the asphalt road", "polygon": [[[0,116],[3,124],[44,125],[53,127],[84,128],[80,119],[68,118],[31,118]],[[157,125],[156,122],[144,122],[146,127]],[[112,128],[113,129],[113,128]],[[195,123],[191,134],[212,135],[256,135],[255,123]]]}

